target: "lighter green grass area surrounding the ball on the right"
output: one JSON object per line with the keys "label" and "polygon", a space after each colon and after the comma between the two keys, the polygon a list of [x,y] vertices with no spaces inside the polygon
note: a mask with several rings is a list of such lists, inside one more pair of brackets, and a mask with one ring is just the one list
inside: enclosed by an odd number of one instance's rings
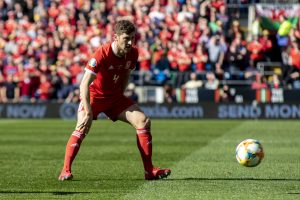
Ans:
{"label": "lighter green grass area surrounding the ball on the right", "polygon": [[[295,121],[245,121],[178,162],[170,179],[145,183],[124,199],[297,199],[299,128]],[[256,168],[235,160],[235,147],[246,138],[265,147]]]}

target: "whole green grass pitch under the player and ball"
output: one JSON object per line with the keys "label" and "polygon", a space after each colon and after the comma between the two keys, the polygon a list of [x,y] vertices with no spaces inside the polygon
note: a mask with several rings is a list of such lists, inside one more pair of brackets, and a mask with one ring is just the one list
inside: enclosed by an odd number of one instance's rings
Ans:
{"label": "whole green grass pitch under the player and ball", "polygon": [[[74,161],[74,180],[59,182],[75,121],[0,120],[0,199],[300,199],[300,122],[152,120],[153,161],[170,178],[143,180],[135,130],[95,121]],[[235,160],[236,145],[262,142],[254,168]]]}

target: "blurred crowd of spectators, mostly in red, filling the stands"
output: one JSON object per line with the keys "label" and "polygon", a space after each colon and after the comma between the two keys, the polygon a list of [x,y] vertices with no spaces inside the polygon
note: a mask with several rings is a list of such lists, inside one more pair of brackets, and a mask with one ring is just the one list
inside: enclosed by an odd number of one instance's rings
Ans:
{"label": "blurred crowd of spectators, mostly in red, filling the stands", "polygon": [[[119,19],[137,26],[135,85],[297,85],[300,23],[276,38],[254,21],[249,38],[225,0],[0,0],[0,102],[78,102],[89,55],[112,40]],[[257,63],[278,59],[274,49],[284,69],[267,79]]]}

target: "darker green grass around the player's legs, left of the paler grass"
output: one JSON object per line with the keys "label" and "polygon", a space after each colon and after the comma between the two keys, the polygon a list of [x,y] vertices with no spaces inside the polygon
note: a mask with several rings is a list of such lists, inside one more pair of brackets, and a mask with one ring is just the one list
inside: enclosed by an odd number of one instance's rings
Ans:
{"label": "darker green grass around the player's legs, left of the paler grass", "polygon": [[[222,129],[235,123],[224,123]],[[153,120],[154,163],[172,167],[219,137],[222,132],[211,126],[213,121]],[[135,130],[105,120],[95,122],[84,141],[73,167],[75,180],[58,182],[73,127],[74,121],[5,120],[0,140],[1,199],[52,199],[60,194],[72,199],[117,199],[145,183]]]}

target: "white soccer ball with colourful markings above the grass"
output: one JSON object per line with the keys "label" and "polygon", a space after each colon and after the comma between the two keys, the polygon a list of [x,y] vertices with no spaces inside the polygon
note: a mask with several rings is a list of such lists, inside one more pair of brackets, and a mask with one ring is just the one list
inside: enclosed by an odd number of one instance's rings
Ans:
{"label": "white soccer ball with colourful markings above the grass", "polygon": [[236,159],[245,167],[255,167],[264,158],[262,144],[258,140],[246,139],[236,147]]}

